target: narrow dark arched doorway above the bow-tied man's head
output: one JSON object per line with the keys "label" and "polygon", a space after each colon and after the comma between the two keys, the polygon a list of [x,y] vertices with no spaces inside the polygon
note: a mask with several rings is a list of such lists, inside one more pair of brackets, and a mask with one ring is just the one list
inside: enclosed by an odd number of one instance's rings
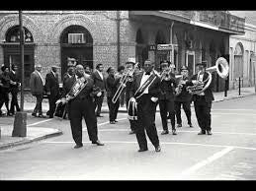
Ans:
{"label": "narrow dark arched doorway above the bow-tied man's head", "polygon": [[144,61],[148,58],[147,46],[140,29],[136,32],[136,61],[143,65]]}

